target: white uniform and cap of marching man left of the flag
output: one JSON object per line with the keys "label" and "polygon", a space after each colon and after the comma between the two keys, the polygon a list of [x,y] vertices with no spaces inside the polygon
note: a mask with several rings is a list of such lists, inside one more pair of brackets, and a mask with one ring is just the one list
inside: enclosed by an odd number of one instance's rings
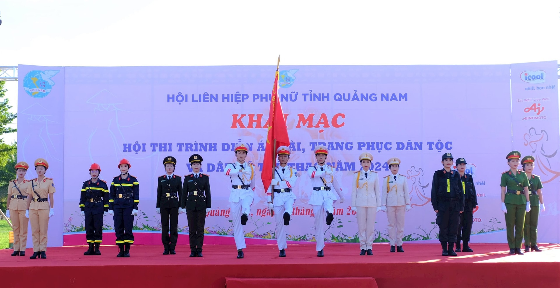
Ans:
{"label": "white uniform and cap of marching man left of the flag", "polygon": [[[245,143],[238,143],[235,151],[248,151],[247,147]],[[239,169],[242,169],[243,172],[239,172]],[[233,217],[235,245],[237,249],[243,249],[247,246],[245,245],[245,232],[241,225],[241,216],[243,214],[248,216],[251,212],[251,205],[255,197],[255,165],[247,162],[242,164],[239,162],[228,163],[223,173],[231,179],[232,187],[228,201],[230,201]]]}

